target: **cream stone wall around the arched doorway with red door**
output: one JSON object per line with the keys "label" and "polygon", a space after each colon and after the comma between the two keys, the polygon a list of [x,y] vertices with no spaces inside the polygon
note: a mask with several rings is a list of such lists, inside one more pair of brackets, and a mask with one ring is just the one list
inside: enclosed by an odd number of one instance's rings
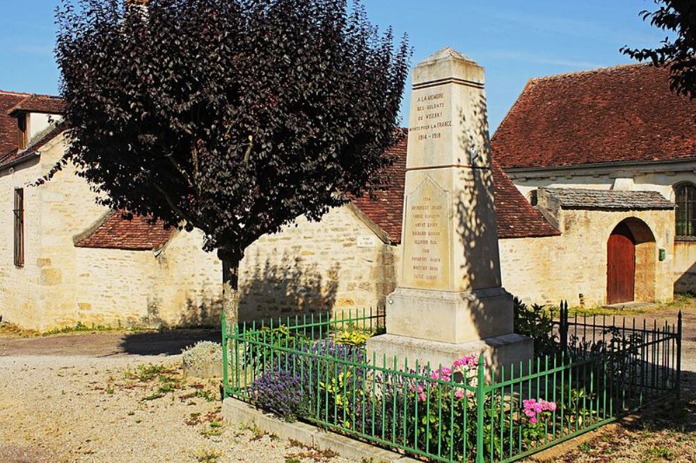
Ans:
{"label": "cream stone wall around the arched doorway with red door", "polygon": [[[673,211],[562,210],[561,236],[500,240],[503,286],[525,302],[606,304],[607,241],[627,218],[642,220],[655,239],[655,252],[636,247],[637,300],[672,300]],[[664,261],[659,261],[658,249],[665,250]]]}

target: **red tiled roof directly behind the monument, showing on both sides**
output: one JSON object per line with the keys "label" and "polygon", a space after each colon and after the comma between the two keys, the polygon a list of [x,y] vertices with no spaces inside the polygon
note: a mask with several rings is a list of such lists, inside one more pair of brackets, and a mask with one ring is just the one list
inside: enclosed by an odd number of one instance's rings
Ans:
{"label": "red tiled roof directly behind the monument, showing on both sides", "polygon": [[[370,220],[389,235],[393,243],[401,242],[407,147],[408,138],[404,137],[390,150],[391,154],[396,156],[396,161],[389,170],[389,188],[376,193],[377,197],[374,200],[363,197],[354,201]],[[492,170],[498,238],[560,235],[560,232],[525,200],[495,160]]]}

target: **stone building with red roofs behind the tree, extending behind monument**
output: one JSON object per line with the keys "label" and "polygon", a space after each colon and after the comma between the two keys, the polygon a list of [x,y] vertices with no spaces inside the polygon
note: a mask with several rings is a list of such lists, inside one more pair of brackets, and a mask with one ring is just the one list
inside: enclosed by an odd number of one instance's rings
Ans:
{"label": "stone building with red roofs behind the tree, extending behind monument", "polygon": [[[98,206],[72,165],[31,186],[65,150],[62,101],[1,92],[0,105],[3,319],[38,330],[214,323],[221,264],[200,249],[202,234]],[[390,184],[374,198],[333,209],[321,222],[299,218],[246,250],[242,319],[383,304],[398,280],[406,138],[392,154]],[[500,238],[558,234],[500,168],[495,174]]]}

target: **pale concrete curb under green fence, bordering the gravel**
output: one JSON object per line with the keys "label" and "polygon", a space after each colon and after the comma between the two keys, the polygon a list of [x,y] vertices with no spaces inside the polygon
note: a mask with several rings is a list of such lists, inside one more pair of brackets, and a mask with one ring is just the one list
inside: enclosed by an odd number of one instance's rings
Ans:
{"label": "pale concrete curb under green fence, bordering the gravel", "polygon": [[272,415],[264,414],[264,412],[255,409],[251,405],[231,397],[223,401],[222,414],[228,423],[247,426],[255,425],[269,434],[275,434],[280,439],[293,439],[306,446],[319,448],[320,450],[333,450],[342,457],[358,462],[419,462],[419,460],[405,457],[400,453],[371,446],[370,444],[365,444],[365,442],[356,441],[335,432],[320,430],[313,425],[280,421]]}

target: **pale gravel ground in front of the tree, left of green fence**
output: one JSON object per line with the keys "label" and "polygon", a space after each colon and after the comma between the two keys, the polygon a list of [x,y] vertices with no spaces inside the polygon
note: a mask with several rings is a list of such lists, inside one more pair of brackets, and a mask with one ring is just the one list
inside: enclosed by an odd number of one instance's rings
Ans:
{"label": "pale gravel ground in front of the tree, left of green fence", "polygon": [[[142,364],[171,368],[141,380]],[[179,364],[178,355],[0,357],[0,462],[348,461],[225,425],[217,384],[182,380]],[[173,391],[153,398],[163,384]]]}

